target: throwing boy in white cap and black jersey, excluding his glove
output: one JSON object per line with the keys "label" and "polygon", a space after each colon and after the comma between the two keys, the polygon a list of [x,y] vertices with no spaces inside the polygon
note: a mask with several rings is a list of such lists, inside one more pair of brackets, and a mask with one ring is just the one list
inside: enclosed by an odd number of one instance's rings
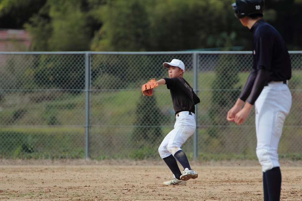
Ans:
{"label": "throwing boy in white cap and black jersey, excluding his glove", "polygon": [[[183,78],[185,65],[181,60],[173,59],[170,63],[163,63],[163,66],[169,68],[169,78],[160,79],[157,84],[167,85],[170,89],[176,116],[174,129],[165,136],[158,148],[160,157],[173,173],[171,180],[164,182],[163,185],[186,185],[187,180],[197,178],[198,174],[191,169],[188,158],[180,147],[196,129],[195,105],[200,100]],[[183,173],[180,172],[175,158],[184,168]]]}

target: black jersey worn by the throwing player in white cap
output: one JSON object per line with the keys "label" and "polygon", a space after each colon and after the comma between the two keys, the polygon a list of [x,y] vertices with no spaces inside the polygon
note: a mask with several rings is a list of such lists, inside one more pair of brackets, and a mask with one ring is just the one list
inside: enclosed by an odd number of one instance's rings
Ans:
{"label": "black jersey worn by the throwing player in white cap", "polygon": [[193,88],[184,78],[164,78],[170,89],[175,115],[182,111],[195,113],[195,105],[200,102]]}

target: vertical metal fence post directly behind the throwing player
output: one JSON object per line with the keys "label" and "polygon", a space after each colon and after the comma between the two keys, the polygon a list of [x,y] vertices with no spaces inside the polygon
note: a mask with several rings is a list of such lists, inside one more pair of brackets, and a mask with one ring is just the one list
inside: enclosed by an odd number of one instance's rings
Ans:
{"label": "vertical metal fence post directly behind the throwing player", "polygon": [[[198,95],[198,53],[193,53],[193,90]],[[195,105],[196,129],[193,134],[193,157],[198,159],[198,104]]]}

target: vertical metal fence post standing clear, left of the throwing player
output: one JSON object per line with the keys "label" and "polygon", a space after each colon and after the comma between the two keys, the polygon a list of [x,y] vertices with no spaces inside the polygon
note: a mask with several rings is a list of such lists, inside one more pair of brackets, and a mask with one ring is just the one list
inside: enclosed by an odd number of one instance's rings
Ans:
{"label": "vertical metal fence post standing clear, left of the throwing player", "polygon": [[85,53],[85,159],[89,158],[89,126],[90,126],[90,53]]}

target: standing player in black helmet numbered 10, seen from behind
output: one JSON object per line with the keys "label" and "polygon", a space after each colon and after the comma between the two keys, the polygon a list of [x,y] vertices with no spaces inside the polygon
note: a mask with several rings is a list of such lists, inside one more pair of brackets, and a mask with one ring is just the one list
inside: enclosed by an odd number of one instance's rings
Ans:
{"label": "standing player in black helmet numbered 10, seen from behind", "polygon": [[263,0],[236,0],[232,6],[235,16],[253,33],[253,65],[227,120],[242,124],[255,104],[256,154],[263,171],[264,201],[276,201],[281,191],[278,144],[291,108],[287,86],[291,61],[281,35],[262,19]]}

